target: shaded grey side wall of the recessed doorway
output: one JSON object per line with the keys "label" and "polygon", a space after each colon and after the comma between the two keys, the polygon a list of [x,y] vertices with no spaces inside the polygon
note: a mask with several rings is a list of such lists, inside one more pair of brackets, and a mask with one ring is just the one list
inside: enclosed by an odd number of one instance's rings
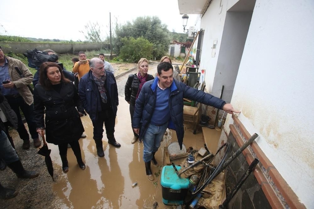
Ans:
{"label": "shaded grey side wall of the recessed doorway", "polygon": [[252,12],[227,12],[211,94],[230,103]]}

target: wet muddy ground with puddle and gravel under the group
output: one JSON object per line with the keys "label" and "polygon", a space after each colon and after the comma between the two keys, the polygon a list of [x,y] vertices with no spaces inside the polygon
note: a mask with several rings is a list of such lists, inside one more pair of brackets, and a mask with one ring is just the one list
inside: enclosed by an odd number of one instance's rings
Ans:
{"label": "wet muddy ground with puddle and gravel under the group", "polygon": [[[157,65],[151,65],[149,74],[155,75]],[[132,71],[130,73],[136,73]],[[2,185],[19,190],[18,196],[0,200],[2,208],[152,208],[155,201],[159,208],[163,205],[160,186],[160,172],[163,165],[163,147],[177,140],[175,131],[169,131],[162,146],[156,153],[159,167],[151,166],[155,174],[153,182],[147,180],[142,159],[143,143],[131,144],[133,132],[129,114],[129,104],[124,100],[124,85],[128,74],[117,79],[119,106],[116,117],[115,138],[121,144],[115,148],[103,137],[105,157],[99,158],[93,140],[93,126],[89,116],[82,117],[85,139],[80,139],[82,158],[86,169],[81,170],[76,163],[73,151],[68,149],[69,172],[62,172],[58,146],[48,144],[52,149],[55,181],[47,172],[44,158],[37,154],[38,149],[22,150],[22,141],[12,132],[17,151],[26,169],[37,170],[40,176],[31,180],[17,179],[10,170],[0,171]],[[186,147],[202,147],[201,132],[193,135],[186,125],[184,143]],[[69,127],[70,128],[70,127]],[[132,188],[132,184],[137,186]]]}

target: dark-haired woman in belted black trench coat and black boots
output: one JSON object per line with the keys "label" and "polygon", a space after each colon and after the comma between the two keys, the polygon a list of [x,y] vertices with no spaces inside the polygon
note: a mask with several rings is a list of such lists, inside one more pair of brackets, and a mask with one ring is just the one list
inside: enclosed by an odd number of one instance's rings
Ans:
{"label": "dark-haired woman in belted black trench coat and black boots", "polygon": [[53,62],[44,62],[40,66],[39,83],[34,89],[34,114],[37,132],[43,136],[46,130],[47,142],[58,145],[63,172],[69,170],[68,143],[76,156],[77,163],[84,170],[86,167],[78,142],[84,132],[80,119],[84,109],[74,84],[64,78],[61,67]]}

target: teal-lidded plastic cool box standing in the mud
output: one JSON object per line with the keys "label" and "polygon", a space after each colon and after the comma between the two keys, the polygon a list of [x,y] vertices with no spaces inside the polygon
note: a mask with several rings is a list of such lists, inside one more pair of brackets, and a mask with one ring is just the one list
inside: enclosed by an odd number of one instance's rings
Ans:
{"label": "teal-lidded plastic cool box standing in the mud", "polygon": [[[177,170],[181,169],[180,166],[176,166],[176,168]],[[189,179],[179,178],[173,166],[164,166],[160,178],[163,203],[166,205],[180,205],[184,203],[189,183]]]}

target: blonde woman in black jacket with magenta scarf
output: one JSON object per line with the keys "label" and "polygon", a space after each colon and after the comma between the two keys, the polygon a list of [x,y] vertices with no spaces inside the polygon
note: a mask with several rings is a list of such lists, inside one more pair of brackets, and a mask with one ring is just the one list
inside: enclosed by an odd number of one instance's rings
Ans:
{"label": "blonde woman in black jacket with magenta scarf", "polygon": [[[146,58],[141,58],[138,62],[138,72],[129,75],[129,78],[125,84],[124,94],[125,100],[130,104],[130,115],[131,121],[133,120],[134,110],[135,110],[135,100],[140,94],[140,90],[146,81],[154,79],[154,77],[148,72],[148,60]],[[133,128],[132,128],[133,130]],[[134,144],[138,139],[138,134],[133,130],[134,137],[131,141]]]}

